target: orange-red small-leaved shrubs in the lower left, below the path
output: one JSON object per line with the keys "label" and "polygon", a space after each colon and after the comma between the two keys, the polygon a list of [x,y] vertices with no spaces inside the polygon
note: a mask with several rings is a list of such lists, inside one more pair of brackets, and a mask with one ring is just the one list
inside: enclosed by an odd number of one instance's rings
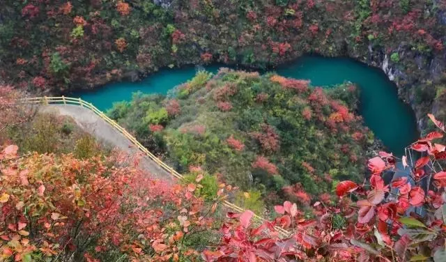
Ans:
{"label": "orange-red small-leaved shrubs in the lower left, below the path", "polygon": [[212,227],[206,214],[215,208],[204,209],[194,186],[152,178],[119,155],[17,158],[17,146],[0,150],[0,160],[8,159],[0,162],[3,260],[198,259],[184,240]]}

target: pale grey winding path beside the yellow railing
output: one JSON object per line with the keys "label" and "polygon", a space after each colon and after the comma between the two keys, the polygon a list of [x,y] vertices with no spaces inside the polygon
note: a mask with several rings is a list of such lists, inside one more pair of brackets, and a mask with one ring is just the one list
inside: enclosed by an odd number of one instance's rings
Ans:
{"label": "pale grey winding path beside the yellow railing", "polygon": [[123,137],[112,125],[104,121],[97,114],[85,107],[77,105],[43,105],[39,111],[44,113],[54,113],[60,116],[70,116],[82,130],[92,134],[98,141],[110,144],[121,151],[128,153],[130,157],[139,157],[139,167],[148,171],[156,178],[174,181],[174,177],[169,172],[162,169],[155,161],[151,160],[144,153],[141,153],[132,141]]}

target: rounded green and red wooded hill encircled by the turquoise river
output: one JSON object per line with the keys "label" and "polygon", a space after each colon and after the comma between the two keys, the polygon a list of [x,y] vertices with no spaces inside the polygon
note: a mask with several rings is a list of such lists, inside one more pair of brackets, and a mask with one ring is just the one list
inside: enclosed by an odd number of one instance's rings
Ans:
{"label": "rounded green and red wooded hill encircled by the turquoise river", "polygon": [[222,69],[198,72],[174,93],[137,93],[109,116],[180,171],[201,168],[271,202],[281,196],[307,205],[337,180],[363,178],[374,137],[354,114],[353,84],[324,91],[305,80]]}

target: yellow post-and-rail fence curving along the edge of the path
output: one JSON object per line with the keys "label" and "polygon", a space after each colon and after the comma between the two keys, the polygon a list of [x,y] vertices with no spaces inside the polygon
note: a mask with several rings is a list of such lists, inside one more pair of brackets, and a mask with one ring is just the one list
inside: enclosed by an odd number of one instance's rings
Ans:
{"label": "yellow post-and-rail fence curving along the edge of the path", "polygon": [[[42,105],[50,105],[50,104],[63,104],[63,105],[79,105],[81,107],[85,107],[87,109],[90,109],[93,111],[96,115],[98,115],[100,118],[102,118],[105,122],[109,123],[114,127],[116,130],[118,130],[121,134],[123,134],[124,137],[129,139],[132,144],[137,146],[137,148],[142,151],[147,157],[149,157],[151,160],[153,160],[156,164],[158,164],[162,169],[169,172],[172,176],[175,176],[178,179],[183,179],[184,176],[182,174],[179,174],[175,169],[169,167],[166,163],[162,162],[158,157],[153,155],[150,151],[147,150],[139,141],[137,141],[136,138],[132,136],[127,130],[121,127],[121,125],[118,125],[116,121],[112,120],[112,118],[109,118],[106,114],[104,114],[102,111],[100,111],[98,108],[96,108],[91,102],[86,102],[80,98],[67,98],[65,96],[59,96],[59,97],[40,97],[40,98],[24,98],[22,99],[23,102],[26,103],[32,103],[32,104],[42,104]],[[239,206],[234,205],[233,203],[229,201],[223,201],[223,205],[227,208],[230,208],[231,210],[236,211],[237,213],[243,213],[245,210],[243,208],[240,208]],[[266,219],[263,217],[259,217],[258,215],[254,215],[253,217],[254,222],[257,224],[261,224]],[[276,230],[284,237],[290,236],[291,232],[286,231],[282,228],[275,227]]]}

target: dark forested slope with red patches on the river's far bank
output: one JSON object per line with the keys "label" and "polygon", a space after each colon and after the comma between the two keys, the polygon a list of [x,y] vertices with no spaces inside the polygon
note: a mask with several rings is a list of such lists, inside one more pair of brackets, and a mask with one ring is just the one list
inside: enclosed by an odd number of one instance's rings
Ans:
{"label": "dark forested slope with red patches on the river's far bank", "polygon": [[316,52],[380,66],[419,119],[431,109],[443,118],[445,9],[441,0],[6,0],[0,75],[67,91],[164,66],[263,68]]}

